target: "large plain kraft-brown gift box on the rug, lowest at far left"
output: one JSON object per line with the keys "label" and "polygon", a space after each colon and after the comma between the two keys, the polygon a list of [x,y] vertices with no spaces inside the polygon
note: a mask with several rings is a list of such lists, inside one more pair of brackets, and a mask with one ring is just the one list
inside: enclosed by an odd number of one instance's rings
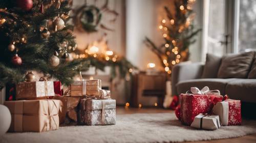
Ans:
{"label": "large plain kraft-brown gift box on the rug, lowest at far left", "polygon": [[4,104],[11,112],[10,132],[44,132],[59,127],[59,100],[18,100]]}

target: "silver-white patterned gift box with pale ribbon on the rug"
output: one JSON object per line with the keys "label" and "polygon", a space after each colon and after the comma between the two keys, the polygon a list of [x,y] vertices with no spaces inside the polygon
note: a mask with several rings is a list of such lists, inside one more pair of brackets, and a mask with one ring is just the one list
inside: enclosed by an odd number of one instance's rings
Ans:
{"label": "silver-white patterned gift box with pale ribbon on the rug", "polygon": [[116,100],[82,99],[79,124],[90,126],[116,124]]}

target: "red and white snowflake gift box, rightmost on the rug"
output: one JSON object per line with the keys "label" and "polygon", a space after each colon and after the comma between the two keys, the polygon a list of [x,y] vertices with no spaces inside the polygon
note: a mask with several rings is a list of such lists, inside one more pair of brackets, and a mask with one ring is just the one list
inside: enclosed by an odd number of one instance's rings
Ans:
{"label": "red and white snowflake gift box, rightmost on the rug", "polygon": [[223,126],[241,125],[241,101],[227,99],[218,102],[212,109],[215,115],[220,116],[220,121]]}

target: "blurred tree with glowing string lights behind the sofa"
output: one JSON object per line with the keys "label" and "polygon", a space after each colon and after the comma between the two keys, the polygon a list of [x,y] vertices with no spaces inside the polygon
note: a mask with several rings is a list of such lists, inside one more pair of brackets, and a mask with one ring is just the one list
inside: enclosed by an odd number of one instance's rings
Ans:
{"label": "blurred tree with glowing string lights behind the sofa", "polygon": [[172,13],[167,7],[164,7],[166,18],[162,19],[159,29],[162,32],[164,43],[157,46],[152,40],[146,37],[145,43],[157,54],[161,64],[170,76],[174,65],[187,61],[190,44],[196,42],[195,35],[200,29],[195,30],[191,23],[195,17],[192,5],[195,0],[175,0],[175,12]]}

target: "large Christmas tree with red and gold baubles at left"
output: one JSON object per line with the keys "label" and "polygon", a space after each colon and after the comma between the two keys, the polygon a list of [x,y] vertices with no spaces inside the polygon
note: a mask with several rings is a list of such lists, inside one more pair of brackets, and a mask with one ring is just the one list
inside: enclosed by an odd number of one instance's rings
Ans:
{"label": "large Christmas tree with red and gold baubles at left", "polygon": [[1,0],[0,89],[6,83],[25,81],[28,71],[50,74],[64,84],[90,65],[70,61],[76,49],[72,25],[67,24],[70,1]]}

